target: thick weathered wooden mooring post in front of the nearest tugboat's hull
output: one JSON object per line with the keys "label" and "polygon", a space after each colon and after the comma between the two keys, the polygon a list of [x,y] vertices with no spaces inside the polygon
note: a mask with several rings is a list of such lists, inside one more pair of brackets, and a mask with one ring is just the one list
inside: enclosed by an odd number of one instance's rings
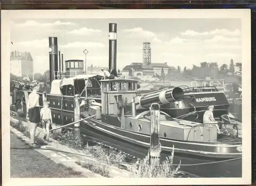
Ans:
{"label": "thick weathered wooden mooring post in front of the nearest tugboat's hull", "polygon": [[157,164],[160,158],[160,105],[153,103],[150,107],[150,162]]}

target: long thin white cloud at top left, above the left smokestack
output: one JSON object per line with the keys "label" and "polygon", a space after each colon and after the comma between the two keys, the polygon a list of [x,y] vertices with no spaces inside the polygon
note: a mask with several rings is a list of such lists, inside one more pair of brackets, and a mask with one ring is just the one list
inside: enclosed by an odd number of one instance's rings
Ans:
{"label": "long thin white cloud at top left, above the left smokestack", "polygon": [[51,26],[60,26],[60,25],[76,25],[73,22],[61,22],[59,20],[55,22],[37,22],[35,20],[27,20],[24,23],[15,24],[16,27],[51,27]]}

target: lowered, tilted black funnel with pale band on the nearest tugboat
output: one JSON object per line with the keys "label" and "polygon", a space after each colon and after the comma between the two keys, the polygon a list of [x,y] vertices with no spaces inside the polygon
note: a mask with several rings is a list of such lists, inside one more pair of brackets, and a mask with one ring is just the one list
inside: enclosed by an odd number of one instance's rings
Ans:
{"label": "lowered, tilted black funnel with pale band on the nearest tugboat", "polygon": [[137,97],[136,109],[150,108],[152,103],[165,105],[184,98],[183,90],[180,87],[166,88]]}

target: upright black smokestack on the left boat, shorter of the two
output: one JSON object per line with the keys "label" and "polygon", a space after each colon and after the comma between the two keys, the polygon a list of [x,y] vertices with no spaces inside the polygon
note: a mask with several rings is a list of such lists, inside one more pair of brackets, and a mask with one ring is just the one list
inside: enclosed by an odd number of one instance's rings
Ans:
{"label": "upright black smokestack on the left boat, shorter of the two", "polygon": [[50,81],[54,80],[54,71],[58,71],[58,40],[49,37]]}

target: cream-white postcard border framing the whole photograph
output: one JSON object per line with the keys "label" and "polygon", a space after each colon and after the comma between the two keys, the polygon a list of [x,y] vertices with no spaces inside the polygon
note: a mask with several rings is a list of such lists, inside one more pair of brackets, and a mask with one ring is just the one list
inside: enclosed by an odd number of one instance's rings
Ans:
{"label": "cream-white postcard border framing the whole photograph", "polygon": [[[159,185],[251,183],[251,22],[250,9],[208,10],[2,10],[3,185]],[[240,18],[242,21],[242,178],[10,178],[10,23],[17,18]]]}

